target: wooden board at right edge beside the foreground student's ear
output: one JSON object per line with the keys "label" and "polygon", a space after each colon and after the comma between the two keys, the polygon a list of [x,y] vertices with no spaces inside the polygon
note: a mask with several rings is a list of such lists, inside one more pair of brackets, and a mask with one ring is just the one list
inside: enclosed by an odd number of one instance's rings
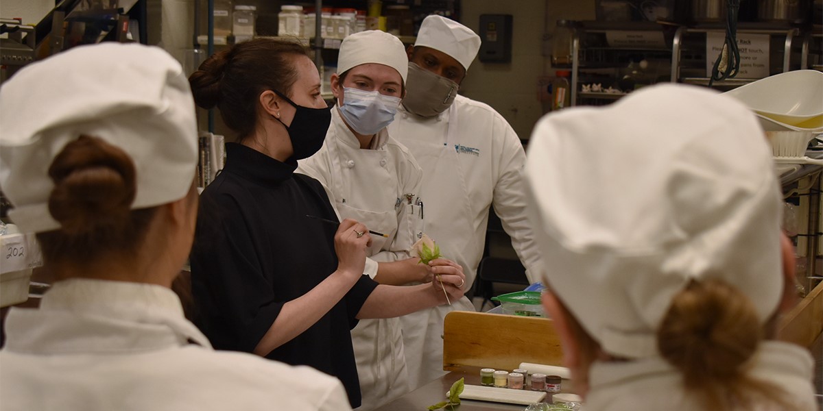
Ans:
{"label": "wooden board at right edge beside the foreground student's ear", "polygon": [[811,348],[823,332],[823,283],[817,284],[797,307],[780,321],[778,335],[783,341]]}

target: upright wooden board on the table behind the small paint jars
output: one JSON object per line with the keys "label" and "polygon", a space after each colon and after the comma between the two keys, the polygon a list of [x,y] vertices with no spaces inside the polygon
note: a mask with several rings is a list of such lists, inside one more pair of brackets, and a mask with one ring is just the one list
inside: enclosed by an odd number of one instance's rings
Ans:
{"label": "upright wooden board on the table behind the small paint jars", "polygon": [[534,316],[449,312],[444,323],[443,369],[514,370],[520,363],[561,365],[563,352],[552,321]]}

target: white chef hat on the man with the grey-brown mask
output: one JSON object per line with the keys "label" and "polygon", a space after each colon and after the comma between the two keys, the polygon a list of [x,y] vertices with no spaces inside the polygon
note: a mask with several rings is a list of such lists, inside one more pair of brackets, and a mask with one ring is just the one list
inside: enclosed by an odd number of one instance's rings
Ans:
{"label": "white chef hat on the man with the grey-brown mask", "polygon": [[414,45],[449,54],[468,70],[480,50],[480,36],[457,21],[432,15],[423,19]]}

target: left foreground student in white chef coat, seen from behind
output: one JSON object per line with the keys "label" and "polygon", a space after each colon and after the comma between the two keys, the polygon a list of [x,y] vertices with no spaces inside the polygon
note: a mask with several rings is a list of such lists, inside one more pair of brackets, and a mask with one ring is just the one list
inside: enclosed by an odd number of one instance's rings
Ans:
{"label": "left foreground student in white chef coat, seen from behind", "polygon": [[337,378],[216,352],[170,289],[192,246],[194,105],[160,48],[72,48],[0,89],[0,185],[56,282],[12,308],[0,409],[351,409]]}

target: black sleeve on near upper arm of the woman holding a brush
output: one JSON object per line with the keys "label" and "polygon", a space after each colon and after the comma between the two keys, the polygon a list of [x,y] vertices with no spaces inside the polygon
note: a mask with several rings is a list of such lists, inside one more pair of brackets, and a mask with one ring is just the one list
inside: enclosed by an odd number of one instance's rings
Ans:
{"label": "black sleeve on near upper arm of the woman holding a brush", "polygon": [[[237,201],[225,194],[203,199],[191,265],[202,286],[200,297],[207,300],[198,303],[206,311],[207,336],[229,349],[252,352],[286,302],[276,301],[272,280],[263,275],[259,244],[249,229],[253,223],[238,211]],[[215,345],[226,349],[226,344]]]}

